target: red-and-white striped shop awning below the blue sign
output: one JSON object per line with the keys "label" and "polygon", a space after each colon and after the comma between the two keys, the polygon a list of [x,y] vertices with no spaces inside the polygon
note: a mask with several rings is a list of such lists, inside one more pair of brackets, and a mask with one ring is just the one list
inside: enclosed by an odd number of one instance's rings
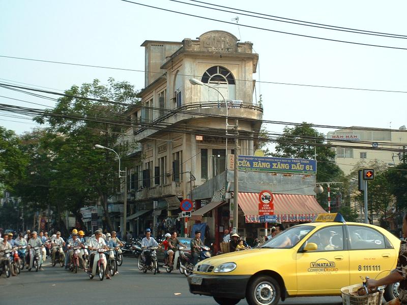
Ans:
{"label": "red-and-white striped shop awning below the blue sign", "polygon": [[[273,194],[274,214],[277,222],[312,221],[319,213],[326,213],[314,196]],[[239,192],[239,206],[245,214],[246,222],[258,220],[258,193]]]}

